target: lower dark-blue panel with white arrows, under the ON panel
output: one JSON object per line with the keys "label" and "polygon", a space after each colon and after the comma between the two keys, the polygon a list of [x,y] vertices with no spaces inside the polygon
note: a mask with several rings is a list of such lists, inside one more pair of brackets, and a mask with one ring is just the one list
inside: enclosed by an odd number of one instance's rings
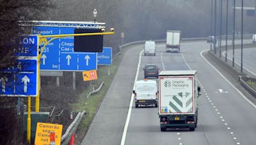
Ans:
{"label": "lower dark-blue panel with white arrows, under the ON panel", "polygon": [[37,59],[19,59],[12,67],[1,70],[0,96],[35,97],[37,95]]}

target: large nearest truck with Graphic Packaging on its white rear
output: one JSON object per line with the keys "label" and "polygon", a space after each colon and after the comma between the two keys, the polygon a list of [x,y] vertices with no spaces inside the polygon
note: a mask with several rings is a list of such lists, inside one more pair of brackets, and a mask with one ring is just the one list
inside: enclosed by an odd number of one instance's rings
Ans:
{"label": "large nearest truck with Graphic Packaging on its white rear", "polygon": [[197,125],[200,86],[196,71],[161,71],[159,73],[159,118],[161,131]]}

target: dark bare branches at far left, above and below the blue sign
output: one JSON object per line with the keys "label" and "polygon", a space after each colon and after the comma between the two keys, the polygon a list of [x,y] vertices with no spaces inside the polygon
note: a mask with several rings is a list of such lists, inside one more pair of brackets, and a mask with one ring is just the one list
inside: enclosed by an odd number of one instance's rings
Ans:
{"label": "dark bare branches at far left, above and below the blue sign", "polygon": [[[12,66],[17,59],[15,50],[22,34],[28,34],[20,21],[33,20],[39,13],[52,7],[50,0],[0,0],[0,71]],[[0,72],[1,76],[6,76]],[[17,116],[14,97],[0,97],[0,142],[22,144],[22,121]]]}

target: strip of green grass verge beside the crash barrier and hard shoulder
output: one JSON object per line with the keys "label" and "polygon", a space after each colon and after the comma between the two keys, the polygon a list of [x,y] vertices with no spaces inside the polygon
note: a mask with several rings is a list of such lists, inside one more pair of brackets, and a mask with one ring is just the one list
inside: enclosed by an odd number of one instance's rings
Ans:
{"label": "strip of green grass verge beside the crash barrier and hard shoulder", "polygon": [[77,128],[75,144],[81,144],[81,142],[83,141],[83,137],[86,134],[88,128],[90,127],[90,123],[92,122],[93,117],[95,116],[95,113],[97,113],[97,109],[100,106],[100,102],[102,102],[102,99],[104,98],[106,92],[108,91],[109,86],[111,85],[111,82],[116,74],[116,71],[122,60],[122,57],[123,57],[123,54],[121,53],[112,62],[111,66],[98,67],[98,71],[97,71],[98,79],[97,81],[92,81],[92,84],[95,86],[95,89],[96,89],[99,86],[99,84],[102,81],[104,81],[104,85],[99,92],[95,93],[94,95],[86,99],[87,94],[90,91],[92,91],[91,89],[88,88],[79,95],[79,99],[77,100],[77,102],[72,104],[72,111],[74,112],[86,110],[85,118],[83,118],[79,127]]}

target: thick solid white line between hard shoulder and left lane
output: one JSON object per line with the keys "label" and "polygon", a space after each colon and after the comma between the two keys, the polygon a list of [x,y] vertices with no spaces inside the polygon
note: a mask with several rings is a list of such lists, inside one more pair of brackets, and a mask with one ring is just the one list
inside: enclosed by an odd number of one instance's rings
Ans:
{"label": "thick solid white line between hard shoulder and left lane", "polygon": [[[140,70],[140,62],[141,62],[141,54],[142,54],[143,52],[144,52],[144,50],[142,50],[142,51],[140,52],[140,59],[139,59],[138,67],[137,67],[136,76],[135,76],[135,79],[134,79],[133,90],[134,90],[134,88],[135,88],[135,81],[138,79],[139,70]],[[134,99],[134,94],[132,93],[132,95],[131,95],[131,100],[130,100],[130,106],[129,106],[127,118],[126,118],[125,125],[124,125],[124,132],[123,132],[123,135],[122,135],[121,145],[124,145],[124,143],[125,143],[125,137],[126,137],[126,134],[127,134],[128,125],[129,125],[129,121],[130,121],[130,118],[131,118],[133,99]]]}

